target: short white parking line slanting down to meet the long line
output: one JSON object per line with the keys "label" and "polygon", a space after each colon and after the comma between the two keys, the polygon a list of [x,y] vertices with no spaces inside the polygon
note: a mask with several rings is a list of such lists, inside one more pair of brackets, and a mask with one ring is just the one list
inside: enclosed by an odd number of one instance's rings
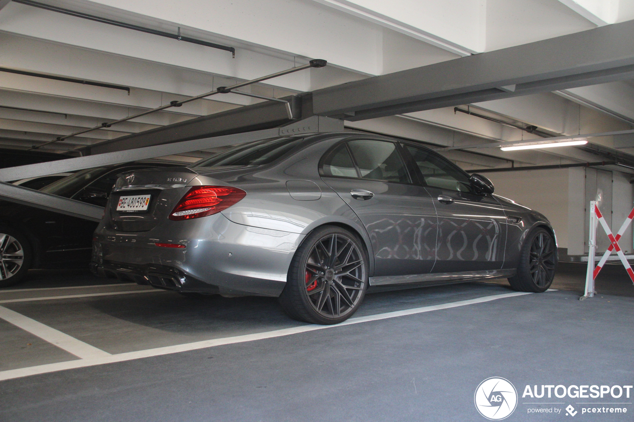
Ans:
{"label": "short white parking line slanting down to meet the long line", "polygon": [[55,344],[60,349],[81,358],[80,360],[112,356],[108,352],[104,352],[81,340],[77,340],[75,337],[70,337],[70,335],[55,330],[55,328],[51,328],[48,325],[32,320],[28,316],[11,311],[11,309],[7,309],[4,306],[0,306],[0,318],[22,328],[22,330],[37,335],[37,337],[42,338],[42,340]]}

